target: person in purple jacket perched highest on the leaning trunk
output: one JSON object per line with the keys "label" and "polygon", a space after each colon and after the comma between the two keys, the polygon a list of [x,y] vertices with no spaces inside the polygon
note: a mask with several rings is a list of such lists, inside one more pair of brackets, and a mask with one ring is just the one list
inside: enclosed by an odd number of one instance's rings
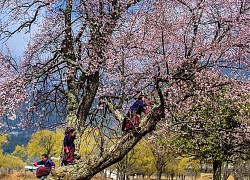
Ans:
{"label": "person in purple jacket perched highest on the leaning trunk", "polygon": [[145,96],[140,95],[139,98],[134,102],[132,106],[130,106],[129,111],[122,123],[122,130],[129,131],[132,129],[140,130],[140,116],[141,113],[147,114],[149,110],[147,106],[149,106],[150,102],[145,102]]}

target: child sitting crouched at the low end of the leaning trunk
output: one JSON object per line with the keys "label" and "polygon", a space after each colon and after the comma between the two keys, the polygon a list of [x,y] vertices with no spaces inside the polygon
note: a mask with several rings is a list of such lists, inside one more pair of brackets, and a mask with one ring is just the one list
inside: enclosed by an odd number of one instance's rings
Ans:
{"label": "child sitting crouched at the low end of the leaning trunk", "polygon": [[44,166],[40,166],[36,170],[36,177],[39,179],[40,178],[43,179],[43,177],[46,177],[47,175],[50,174],[51,171],[55,169],[55,163],[51,159],[48,158],[47,154],[43,154],[41,160],[34,162],[33,165],[34,166],[44,165]]}

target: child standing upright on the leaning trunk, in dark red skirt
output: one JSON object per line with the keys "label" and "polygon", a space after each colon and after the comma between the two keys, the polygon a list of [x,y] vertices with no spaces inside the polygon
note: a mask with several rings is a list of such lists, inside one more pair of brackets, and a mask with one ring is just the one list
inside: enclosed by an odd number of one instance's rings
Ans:
{"label": "child standing upright on the leaning trunk, in dark red skirt", "polygon": [[64,156],[62,161],[65,166],[73,164],[75,153],[75,138],[76,129],[72,127],[66,128],[65,137],[63,140]]}

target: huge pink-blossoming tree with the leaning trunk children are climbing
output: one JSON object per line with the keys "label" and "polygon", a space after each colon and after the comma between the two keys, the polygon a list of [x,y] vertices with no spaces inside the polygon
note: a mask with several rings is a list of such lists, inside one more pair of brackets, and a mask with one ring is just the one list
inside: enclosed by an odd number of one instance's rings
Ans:
{"label": "huge pink-blossoming tree with the leaning trunk children are climbing", "polygon": [[[249,8],[245,0],[1,1],[1,38],[39,28],[20,61],[0,57],[2,121],[18,115],[27,127],[56,114],[77,129],[77,151],[88,126],[118,136],[106,149],[101,139],[89,161],[51,176],[90,179],[157,122],[167,126],[173,112],[188,112],[193,98],[202,103],[227,84],[233,98],[249,91]],[[125,109],[140,92],[152,101],[150,113],[139,132],[119,136]]]}

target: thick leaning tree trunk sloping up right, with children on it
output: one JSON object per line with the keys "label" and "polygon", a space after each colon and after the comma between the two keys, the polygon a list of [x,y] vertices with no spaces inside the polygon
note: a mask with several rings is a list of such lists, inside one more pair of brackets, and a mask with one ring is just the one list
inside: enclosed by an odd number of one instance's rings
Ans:
{"label": "thick leaning tree trunk sloping up right, with children on it", "polygon": [[161,117],[163,114],[160,107],[152,109],[151,113],[142,120],[140,132],[130,132],[121,137],[120,141],[112,146],[103,157],[94,157],[88,162],[79,161],[75,165],[59,167],[48,179],[91,179],[98,172],[122,160],[143,136],[155,129],[156,123]]}

